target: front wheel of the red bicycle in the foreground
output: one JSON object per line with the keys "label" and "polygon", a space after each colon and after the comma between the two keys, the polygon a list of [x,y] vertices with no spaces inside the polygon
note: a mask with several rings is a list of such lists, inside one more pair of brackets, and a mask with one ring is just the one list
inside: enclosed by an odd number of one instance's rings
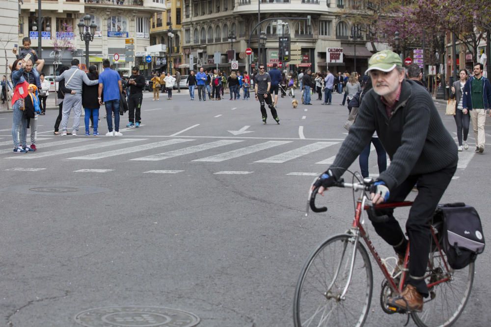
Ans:
{"label": "front wheel of the red bicycle in the foreground", "polygon": [[[355,265],[348,290],[353,253]],[[367,251],[355,237],[327,239],[303,266],[293,304],[295,327],[363,326],[372,299],[372,266]]]}

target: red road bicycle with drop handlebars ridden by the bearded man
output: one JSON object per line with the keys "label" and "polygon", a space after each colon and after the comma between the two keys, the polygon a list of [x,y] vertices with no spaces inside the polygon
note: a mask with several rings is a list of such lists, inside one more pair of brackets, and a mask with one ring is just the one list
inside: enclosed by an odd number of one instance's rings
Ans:
{"label": "red road bicycle with drop handlebars ridden by the bearded man", "polygon": [[[439,237],[442,235],[443,222],[438,221],[437,216],[434,216],[431,222],[432,242],[425,273],[430,297],[424,299],[423,311],[410,312],[386,304],[388,297],[397,296],[403,290],[406,275],[409,274],[409,244],[404,265],[397,270],[396,257],[382,259],[375,250],[364,228],[363,213],[370,210],[369,219],[384,222],[388,217],[377,216],[375,209],[410,206],[412,202],[373,205],[366,193],[372,182],[370,178],[356,183],[345,183],[340,179],[335,185],[353,189],[355,217],[346,233],[327,238],[305,262],[295,290],[293,305],[295,327],[363,326],[368,316],[373,292],[373,273],[369,253],[384,276],[380,295],[383,312],[407,314],[406,325],[409,323],[409,318],[412,318],[419,327],[446,327],[454,324],[464,310],[472,288],[474,263],[470,263],[462,270],[450,268]],[[327,211],[327,207],[315,206],[318,189],[319,187],[309,192],[307,214],[309,207],[318,213]],[[359,192],[356,200],[355,192]],[[359,241],[360,238],[363,239],[369,252]]]}

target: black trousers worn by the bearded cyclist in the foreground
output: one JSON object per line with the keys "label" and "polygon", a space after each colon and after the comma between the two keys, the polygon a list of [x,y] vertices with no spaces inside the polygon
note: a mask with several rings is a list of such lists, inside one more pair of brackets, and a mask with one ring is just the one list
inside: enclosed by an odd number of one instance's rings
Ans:
{"label": "black trousers worn by the bearded cyclist in the foreground", "polygon": [[[421,277],[425,275],[430,254],[430,221],[456,169],[457,166],[452,166],[433,173],[408,176],[399,186],[391,190],[388,200],[388,202],[404,201],[417,183],[418,195],[409,210],[409,218],[406,222],[406,231],[410,240],[408,283],[416,287],[417,291],[425,297],[429,292]],[[394,209],[377,210],[378,215],[388,215],[390,220],[380,224],[372,223],[372,225],[385,242],[392,245],[396,252],[403,254],[407,241],[393,213]]]}

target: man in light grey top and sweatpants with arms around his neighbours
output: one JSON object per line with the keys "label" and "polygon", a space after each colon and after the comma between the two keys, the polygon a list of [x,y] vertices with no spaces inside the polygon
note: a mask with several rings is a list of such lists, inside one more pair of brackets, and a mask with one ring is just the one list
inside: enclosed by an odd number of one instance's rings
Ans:
{"label": "man in light grey top and sweatpants with arms around his neighbours", "polygon": [[72,60],[72,67],[69,70],[64,71],[61,75],[55,79],[59,82],[65,79],[65,86],[72,90],[71,94],[65,94],[63,100],[62,118],[61,118],[61,135],[66,135],[66,126],[68,125],[68,118],[70,117],[70,111],[73,108],[75,117],[73,119],[72,135],[76,136],[80,126],[80,116],[82,115],[82,85],[96,85],[99,84],[99,80],[90,80],[82,70],[79,69],[79,59]]}

